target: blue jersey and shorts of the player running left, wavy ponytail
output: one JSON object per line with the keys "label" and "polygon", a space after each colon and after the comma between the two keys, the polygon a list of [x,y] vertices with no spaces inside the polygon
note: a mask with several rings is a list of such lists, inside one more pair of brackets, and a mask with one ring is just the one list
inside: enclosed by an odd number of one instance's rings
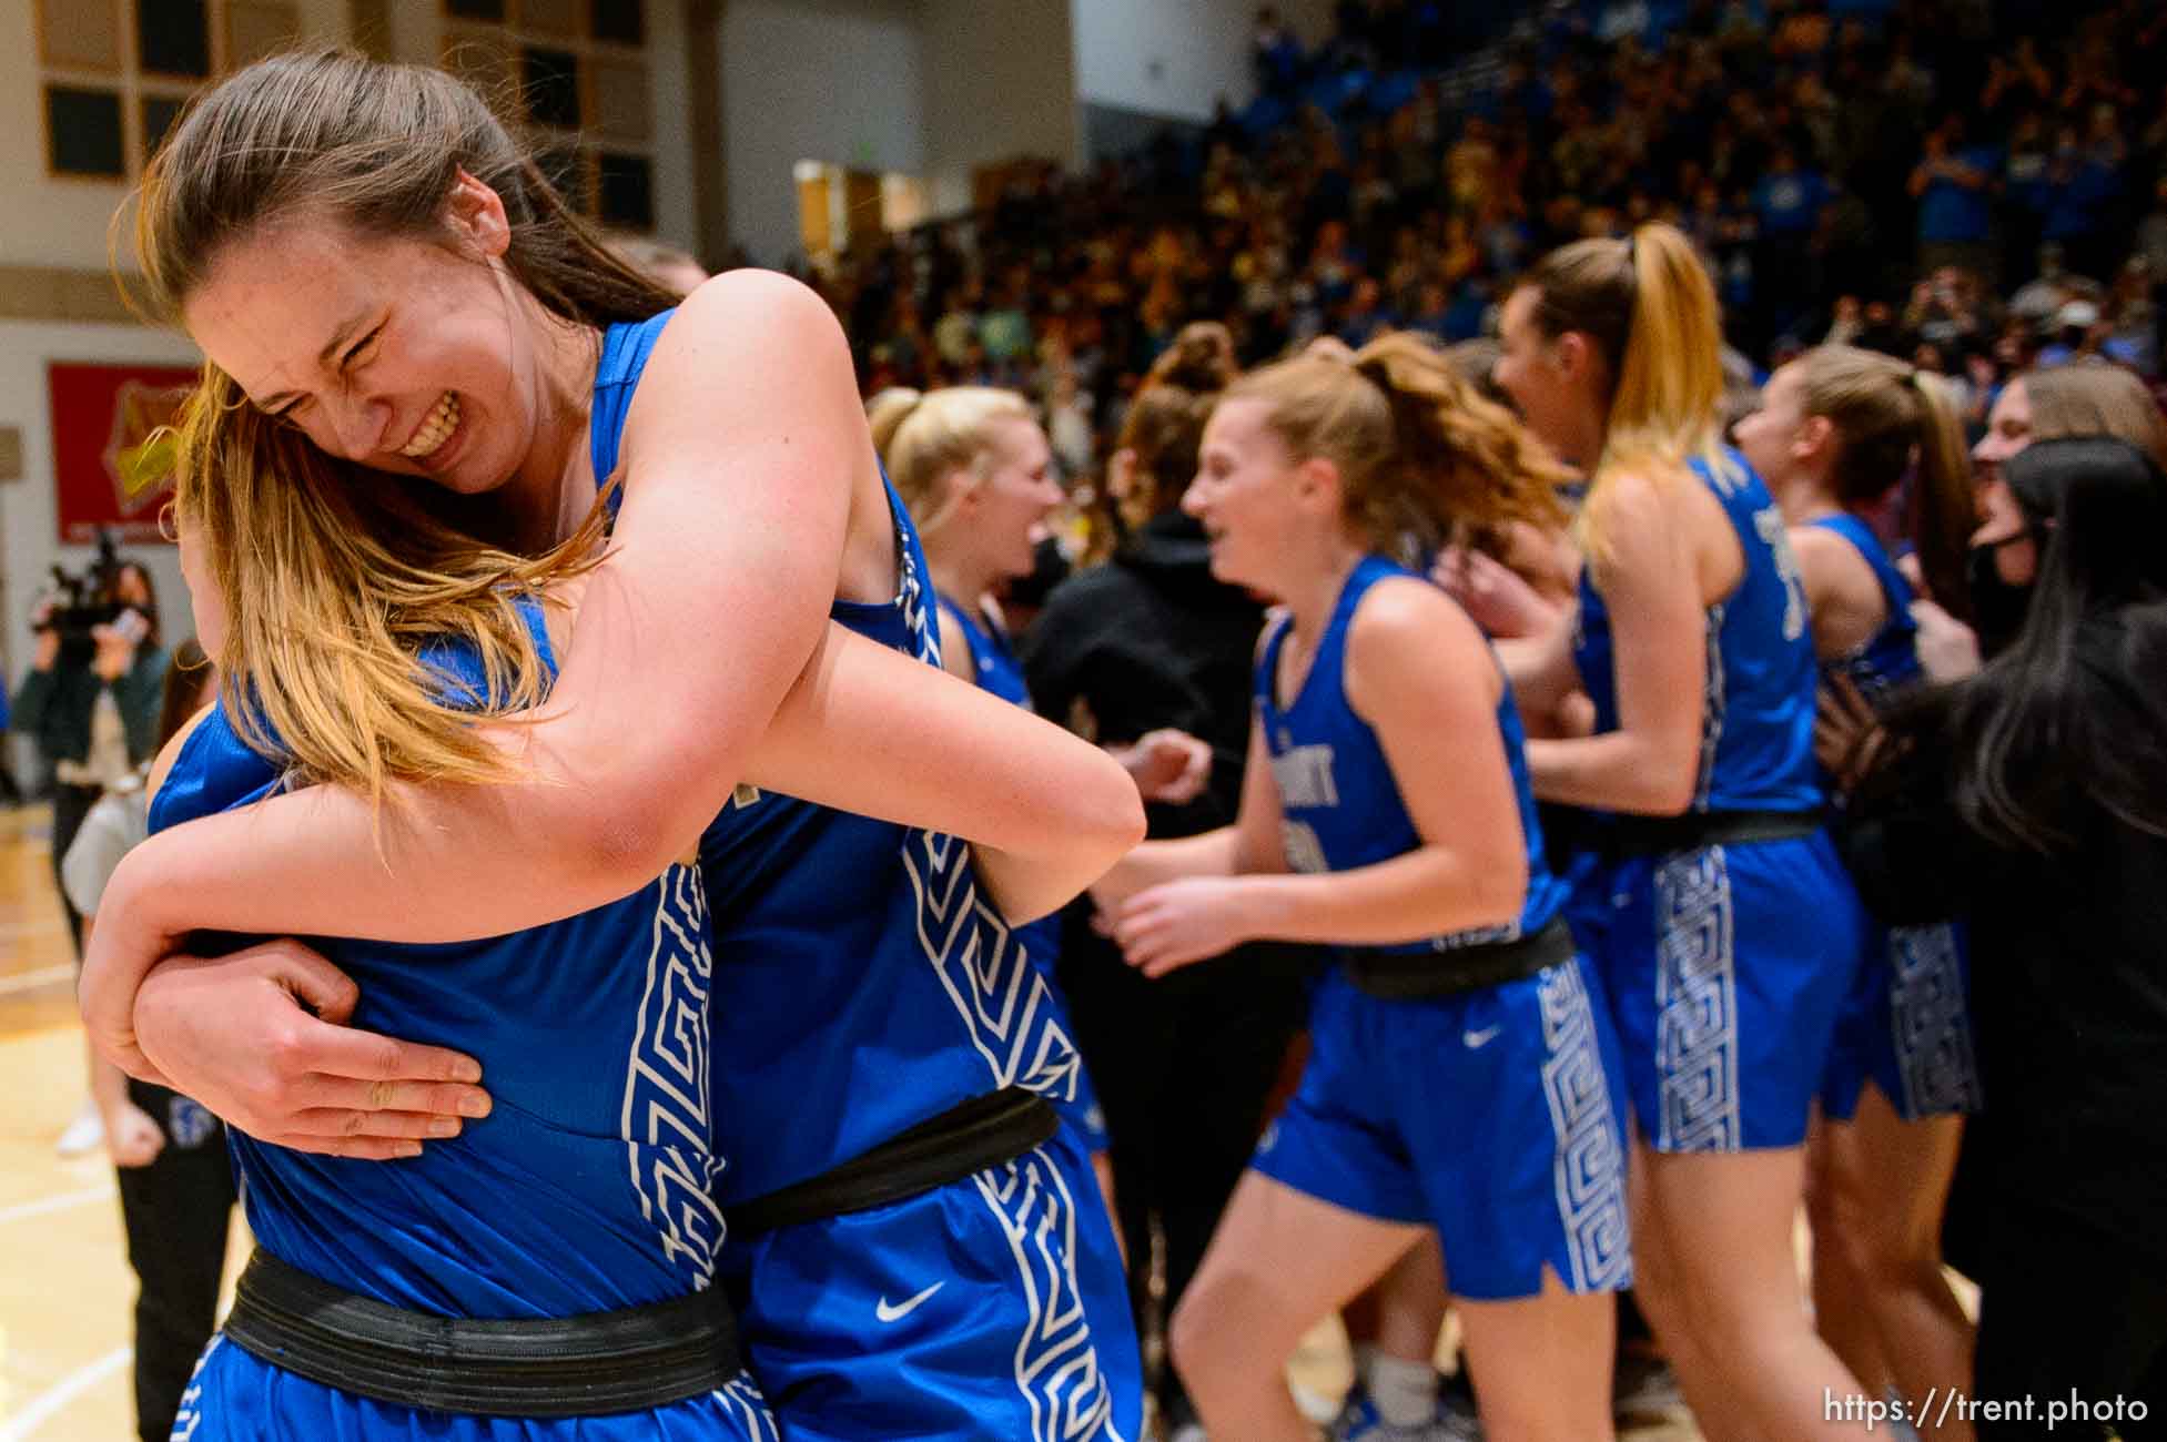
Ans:
{"label": "blue jersey and shorts of the player running left, wavy ponytail", "polygon": [[[1376,732],[1346,697],[1348,628],[1380,580],[1415,574],[1367,556],[1348,576],[1302,689],[1279,699],[1279,621],[1257,665],[1257,725],[1285,808],[1287,864],[1354,870],[1422,844]],[[1506,689],[1497,730],[1513,766],[1528,849],[1515,925],[1378,946],[1448,953],[1532,938],[1558,916],[1565,883],[1543,836]],[[1354,948],[1337,948],[1348,959]],[[1593,974],[1573,957],[1532,976],[1428,998],[1380,998],[1335,966],[1311,1005],[1311,1054],[1257,1171],[1365,1217],[1435,1225],[1452,1290],[1532,1297],[1552,1269],[1567,1288],[1632,1282],[1625,1215],[1623,1078]]]}

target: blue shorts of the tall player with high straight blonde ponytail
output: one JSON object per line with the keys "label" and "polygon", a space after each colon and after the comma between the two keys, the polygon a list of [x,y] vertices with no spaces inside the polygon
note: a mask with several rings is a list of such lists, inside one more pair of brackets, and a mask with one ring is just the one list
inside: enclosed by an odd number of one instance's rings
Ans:
{"label": "blue shorts of the tall player with high straight blonde ponytail", "polygon": [[1827,834],[1578,875],[1588,894],[1567,916],[1610,998],[1640,1139],[1801,1145],[1868,927]]}

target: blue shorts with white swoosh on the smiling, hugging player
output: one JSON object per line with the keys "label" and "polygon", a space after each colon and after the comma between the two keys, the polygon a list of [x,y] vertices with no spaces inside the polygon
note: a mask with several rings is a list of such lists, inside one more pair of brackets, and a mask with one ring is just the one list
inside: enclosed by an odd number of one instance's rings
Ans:
{"label": "blue shorts with white swoosh on the smiling, hugging player", "polygon": [[891,1206],[732,1236],[722,1271],[791,1442],[1142,1431],[1120,1251],[1066,1128]]}

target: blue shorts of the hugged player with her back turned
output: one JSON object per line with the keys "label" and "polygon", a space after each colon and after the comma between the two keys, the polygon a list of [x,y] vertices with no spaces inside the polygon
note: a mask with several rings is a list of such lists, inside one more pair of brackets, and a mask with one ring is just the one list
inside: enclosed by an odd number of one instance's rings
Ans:
{"label": "blue shorts of the hugged player with her back turned", "polygon": [[420,1412],[297,1377],[210,1338],[180,1397],[171,1442],[780,1442],[752,1377],[667,1407],[583,1418]]}

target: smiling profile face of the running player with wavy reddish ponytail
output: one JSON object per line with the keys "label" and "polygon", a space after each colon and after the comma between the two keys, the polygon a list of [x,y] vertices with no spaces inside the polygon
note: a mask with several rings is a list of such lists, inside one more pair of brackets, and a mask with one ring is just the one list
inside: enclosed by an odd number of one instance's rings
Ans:
{"label": "smiling profile face of the running player with wavy reddish ponytail", "polygon": [[1211,411],[1181,509],[1203,522],[1214,576],[1276,595],[1305,517],[1296,500],[1300,468],[1268,424],[1270,414],[1270,403],[1255,398],[1222,401]]}

